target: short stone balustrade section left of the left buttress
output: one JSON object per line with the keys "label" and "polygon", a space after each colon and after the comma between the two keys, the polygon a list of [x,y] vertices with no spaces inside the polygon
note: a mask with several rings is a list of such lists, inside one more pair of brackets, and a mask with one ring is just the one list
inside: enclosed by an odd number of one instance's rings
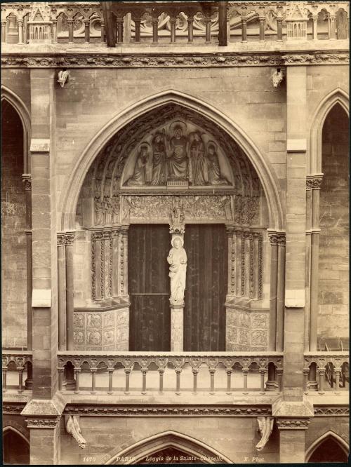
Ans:
{"label": "short stone balustrade section left of the left buttress", "polygon": [[[15,388],[18,393],[32,388],[32,351],[2,351],[2,391]],[[11,378],[8,384],[8,372],[18,373],[18,384],[13,384],[15,379]],[[27,376],[23,385],[23,376]]]}

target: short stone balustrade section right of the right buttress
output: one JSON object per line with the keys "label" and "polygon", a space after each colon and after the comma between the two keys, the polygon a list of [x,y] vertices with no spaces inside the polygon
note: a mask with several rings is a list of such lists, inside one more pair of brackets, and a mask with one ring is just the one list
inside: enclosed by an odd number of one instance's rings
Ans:
{"label": "short stone balustrade section right of the right buttress", "polygon": [[305,394],[318,391],[348,391],[349,387],[349,353],[338,352],[305,352],[304,353],[304,391]]}

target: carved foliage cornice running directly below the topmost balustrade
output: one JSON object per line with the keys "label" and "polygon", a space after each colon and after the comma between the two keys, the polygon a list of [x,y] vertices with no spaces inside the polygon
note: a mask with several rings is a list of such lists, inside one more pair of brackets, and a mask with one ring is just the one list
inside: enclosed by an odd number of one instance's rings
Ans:
{"label": "carved foliage cornice running directly below the topmost balustrade", "polygon": [[348,65],[347,50],[254,53],[3,53],[3,68],[201,68]]}

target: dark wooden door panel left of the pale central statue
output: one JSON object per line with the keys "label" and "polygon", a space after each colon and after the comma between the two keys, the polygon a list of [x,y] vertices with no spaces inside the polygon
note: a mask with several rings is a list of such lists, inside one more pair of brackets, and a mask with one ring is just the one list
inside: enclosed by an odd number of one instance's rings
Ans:
{"label": "dark wooden door panel left of the pale central statue", "polygon": [[131,351],[170,351],[171,310],[166,224],[133,224],[128,233]]}

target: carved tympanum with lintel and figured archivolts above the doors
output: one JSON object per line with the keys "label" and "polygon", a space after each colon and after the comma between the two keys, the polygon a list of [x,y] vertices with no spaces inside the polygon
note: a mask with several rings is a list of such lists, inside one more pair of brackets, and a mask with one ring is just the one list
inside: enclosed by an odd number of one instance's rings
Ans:
{"label": "carved tympanum with lintel and figured archivolts above the doors", "polygon": [[102,148],[77,213],[85,227],[145,217],[167,222],[171,198],[182,195],[186,222],[251,226],[259,223],[261,194],[249,158],[225,130],[196,111],[165,104],[128,123]]}

